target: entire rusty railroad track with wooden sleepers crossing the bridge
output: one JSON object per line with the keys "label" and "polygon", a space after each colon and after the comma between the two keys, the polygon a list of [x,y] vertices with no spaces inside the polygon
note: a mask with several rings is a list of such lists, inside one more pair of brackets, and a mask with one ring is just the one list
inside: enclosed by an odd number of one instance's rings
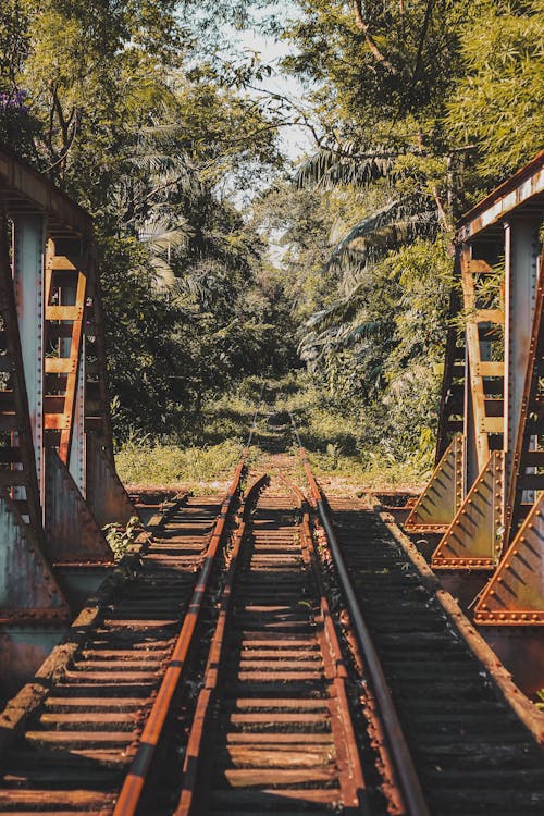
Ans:
{"label": "entire rusty railroad track with wooden sleepers crossing the bridge", "polygon": [[308,499],[289,481],[288,420],[240,492],[256,411],[223,504],[172,504],[18,727],[8,709],[0,813],[544,812],[505,683],[393,527],[329,507],[293,418]]}

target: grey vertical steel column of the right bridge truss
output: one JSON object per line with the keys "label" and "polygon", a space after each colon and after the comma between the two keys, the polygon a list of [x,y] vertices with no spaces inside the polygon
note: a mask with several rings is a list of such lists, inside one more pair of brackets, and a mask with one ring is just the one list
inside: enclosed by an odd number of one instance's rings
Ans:
{"label": "grey vertical steel column of the right bridge truss", "polygon": [[521,421],[539,264],[539,222],[505,223],[505,496],[510,490],[512,454]]}

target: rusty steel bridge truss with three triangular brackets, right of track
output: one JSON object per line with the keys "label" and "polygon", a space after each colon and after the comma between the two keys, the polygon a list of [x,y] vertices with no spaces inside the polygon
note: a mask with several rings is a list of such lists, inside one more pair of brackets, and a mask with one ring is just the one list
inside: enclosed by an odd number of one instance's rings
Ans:
{"label": "rusty steel bridge truss with three triangular brackets, right of track", "polygon": [[490,580],[481,625],[544,625],[544,152],[460,222],[436,469],[409,532]]}

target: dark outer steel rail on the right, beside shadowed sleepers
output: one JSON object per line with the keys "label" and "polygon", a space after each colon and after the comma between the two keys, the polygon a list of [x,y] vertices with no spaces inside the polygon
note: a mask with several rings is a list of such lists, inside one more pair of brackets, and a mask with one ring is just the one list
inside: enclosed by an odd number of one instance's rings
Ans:
{"label": "dark outer steel rail on the right, beside shadowed sleepers", "polygon": [[323,495],[311,471],[308,455],[300,440],[295,418],[290,411],[289,418],[310,487],[310,494],[314,506],[319,511],[321,522],[329,540],[334,565],[344,591],[347,610],[351,619],[351,626],[361,650],[361,655],[369,672],[372,690],[379,705],[384,733],[387,739],[391,756],[395,764],[396,777],[403,793],[407,813],[409,816],[430,816],[429,806],[421,789],[421,783],[400,726],[380,657],[378,656],[370,631],[362,617]]}

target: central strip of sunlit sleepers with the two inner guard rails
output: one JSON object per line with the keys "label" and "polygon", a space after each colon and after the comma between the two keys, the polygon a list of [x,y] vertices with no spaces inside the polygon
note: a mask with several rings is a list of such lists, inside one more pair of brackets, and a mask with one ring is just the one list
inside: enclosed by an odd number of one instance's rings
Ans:
{"label": "central strip of sunlit sleepers with the two inner guard rails", "polygon": [[236,533],[177,816],[366,808],[308,515],[297,524],[298,503],[274,482]]}

